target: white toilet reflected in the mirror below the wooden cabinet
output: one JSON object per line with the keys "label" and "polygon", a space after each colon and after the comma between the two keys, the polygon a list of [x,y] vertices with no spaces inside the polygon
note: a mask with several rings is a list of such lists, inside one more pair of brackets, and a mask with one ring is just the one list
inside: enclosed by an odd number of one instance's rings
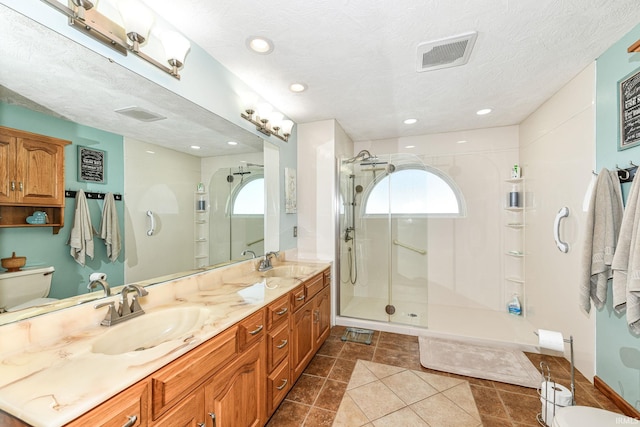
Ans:
{"label": "white toilet reflected in the mirror below the wooden cabinet", "polygon": [[46,298],[54,270],[53,267],[35,267],[0,273],[0,312],[56,301],[55,298]]}

